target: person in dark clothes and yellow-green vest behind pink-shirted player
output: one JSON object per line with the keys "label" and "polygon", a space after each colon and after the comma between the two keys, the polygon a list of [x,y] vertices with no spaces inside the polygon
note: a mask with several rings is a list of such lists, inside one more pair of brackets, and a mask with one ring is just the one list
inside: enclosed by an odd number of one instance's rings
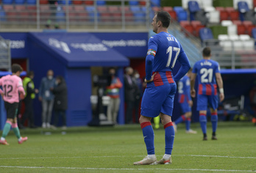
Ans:
{"label": "person in dark clothes and yellow-green vest behind pink-shirted player", "polygon": [[36,128],[34,125],[33,100],[35,99],[35,94],[38,93],[38,89],[35,89],[34,76],[34,72],[30,71],[23,80],[26,95],[24,98],[25,112],[21,118],[21,128],[23,128],[26,119],[29,120],[29,128]]}

